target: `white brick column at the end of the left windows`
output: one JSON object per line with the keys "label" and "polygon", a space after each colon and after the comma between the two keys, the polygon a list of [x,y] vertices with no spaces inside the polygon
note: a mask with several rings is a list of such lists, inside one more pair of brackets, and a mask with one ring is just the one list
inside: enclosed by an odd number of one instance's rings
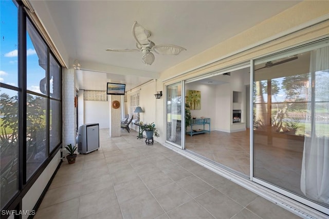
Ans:
{"label": "white brick column at the end of the left windows", "polygon": [[64,69],[62,75],[62,111],[63,111],[63,148],[68,144],[76,144],[76,108],[75,97],[75,74],[73,69]]}

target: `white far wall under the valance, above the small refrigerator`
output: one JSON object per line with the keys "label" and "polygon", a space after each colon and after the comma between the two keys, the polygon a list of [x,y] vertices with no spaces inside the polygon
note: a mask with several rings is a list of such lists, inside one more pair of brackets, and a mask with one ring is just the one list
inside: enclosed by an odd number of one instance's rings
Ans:
{"label": "white far wall under the valance, above the small refrigerator", "polygon": [[109,128],[108,101],[84,101],[84,124],[98,123],[100,129]]}

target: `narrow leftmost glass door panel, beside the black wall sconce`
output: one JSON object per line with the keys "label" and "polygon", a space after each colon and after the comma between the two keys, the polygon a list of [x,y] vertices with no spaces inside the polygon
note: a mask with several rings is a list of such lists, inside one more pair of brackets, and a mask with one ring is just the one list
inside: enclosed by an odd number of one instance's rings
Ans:
{"label": "narrow leftmost glass door panel, beside the black wall sconce", "polygon": [[181,83],[167,86],[167,136],[166,141],[182,148],[181,143]]}

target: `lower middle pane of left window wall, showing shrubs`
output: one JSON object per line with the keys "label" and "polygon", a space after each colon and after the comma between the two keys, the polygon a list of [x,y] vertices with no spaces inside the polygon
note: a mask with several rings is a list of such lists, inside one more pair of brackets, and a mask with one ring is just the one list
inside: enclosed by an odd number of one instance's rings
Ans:
{"label": "lower middle pane of left window wall, showing shrubs", "polygon": [[27,94],[26,178],[46,160],[46,103],[44,97]]}

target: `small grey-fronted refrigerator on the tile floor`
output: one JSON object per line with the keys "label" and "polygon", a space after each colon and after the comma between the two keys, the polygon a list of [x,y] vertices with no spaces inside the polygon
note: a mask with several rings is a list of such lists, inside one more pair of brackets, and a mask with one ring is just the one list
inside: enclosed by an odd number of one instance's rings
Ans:
{"label": "small grey-fronted refrigerator on the tile floor", "polygon": [[99,148],[99,124],[88,123],[79,127],[78,153],[90,153]]}

